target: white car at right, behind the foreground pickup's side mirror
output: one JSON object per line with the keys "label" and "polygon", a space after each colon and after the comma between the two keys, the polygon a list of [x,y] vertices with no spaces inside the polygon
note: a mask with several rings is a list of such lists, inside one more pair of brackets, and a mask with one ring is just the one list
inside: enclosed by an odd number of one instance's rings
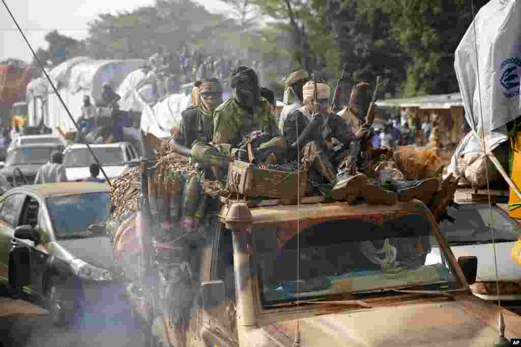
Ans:
{"label": "white car at right, behind the foreground pickup's side mirror", "polygon": [[458,210],[449,208],[448,212],[455,222],[443,221],[440,232],[445,236],[452,252],[456,258],[478,258],[476,283],[471,286],[474,295],[485,300],[497,300],[494,239],[500,299],[520,300],[521,286],[517,283],[521,282],[521,267],[511,259],[510,253],[521,236],[521,227],[497,205],[492,205],[489,209],[486,203],[460,203]]}

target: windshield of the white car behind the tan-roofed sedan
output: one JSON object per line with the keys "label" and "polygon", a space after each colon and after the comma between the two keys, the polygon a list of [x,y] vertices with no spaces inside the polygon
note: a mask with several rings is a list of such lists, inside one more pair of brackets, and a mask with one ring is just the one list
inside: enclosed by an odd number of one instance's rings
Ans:
{"label": "windshield of the white car behind the tan-roofed sedan", "polygon": [[[92,148],[92,150],[103,166],[125,165],[123,162],[123,151],[119,147]],[[71,149],[64,155],[66,168],[82,168],[90,166],[95,162],[87,148]]]}

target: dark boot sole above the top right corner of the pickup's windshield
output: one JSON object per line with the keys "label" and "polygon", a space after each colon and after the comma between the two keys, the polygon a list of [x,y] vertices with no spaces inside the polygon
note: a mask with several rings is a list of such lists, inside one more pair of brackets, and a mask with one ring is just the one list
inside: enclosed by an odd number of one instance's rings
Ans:
{"label": "dark boot sole above the top right corner of the pickup's windshield", "polygon": [[411,201],[418,199],[428,204],[438,190],[440,182],[438,178],[421,180],[395,179],[391,181],[390,188],[398,194],[398,201]]}

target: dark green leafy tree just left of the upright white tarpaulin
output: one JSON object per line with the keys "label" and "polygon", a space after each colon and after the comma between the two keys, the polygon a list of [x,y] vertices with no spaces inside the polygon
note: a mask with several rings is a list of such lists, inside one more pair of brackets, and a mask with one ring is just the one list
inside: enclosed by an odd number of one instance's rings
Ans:
{"label": "dark green leafy tree just left of the upright white tarpaulin", "polygon": [[[486,3],[479,0],[476,12]],[[390,19],[391,36],[410,57],[405,96],[457,92],[454,52],[472,22],[464,0],[384,0],[364,3]]]}

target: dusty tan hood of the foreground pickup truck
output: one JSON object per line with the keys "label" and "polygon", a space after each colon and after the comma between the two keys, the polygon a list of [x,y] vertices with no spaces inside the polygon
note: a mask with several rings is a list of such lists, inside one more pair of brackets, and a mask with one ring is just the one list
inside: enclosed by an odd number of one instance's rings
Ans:
{"label": "dusty tan hood of the foreground pickup truck", "polygon": [[[521,317],[507,310],[503,314],[505,337],[521,336]],[[463,302],[384,307],[301,319],[300,345],[491,347],[498,339],[497,321],[497,306],[472,298]],[[252,331],[249,340],[258,346],[292,346],[295,328],[296,320],[272,324]],[[274,344],[274,340],[278,343]]]}

